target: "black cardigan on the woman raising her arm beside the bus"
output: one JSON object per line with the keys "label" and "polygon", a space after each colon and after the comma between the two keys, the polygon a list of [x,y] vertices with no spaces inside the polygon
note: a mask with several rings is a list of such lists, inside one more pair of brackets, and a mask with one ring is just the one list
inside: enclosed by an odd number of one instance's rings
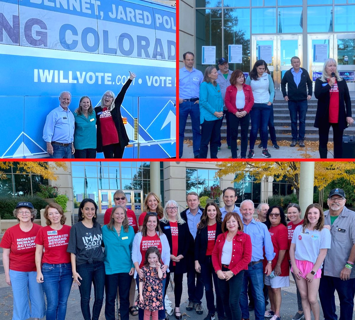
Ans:
{"label": "black cardigan on the woman raising her arm beside the bus", "polygon": [[[123,124],[122,116],[121,116],[121,104],[122,101],[125,97],[126,91],[128,87],[130,86],[132,80],[128,79],[124,86],[122,87],[120,93],[117,95],[115,99],[115,107],[113,110],[111,110],[111,116],[112,119],[115,123],[115,127],[118,133],[118,139],[119,143],[121,144],[121,148],[124,148],[126,145],[128,145],[130,139],[128,138],[125,126]],[[100,124],[100,114],[102,112],[102,107],[96,107],[95,108],[95,113],[96,113],[96,125],[97,125],[97,130],[96,130],[96,151],[97,152],[102,152],[102,135],[101,135],[101,124]]]}

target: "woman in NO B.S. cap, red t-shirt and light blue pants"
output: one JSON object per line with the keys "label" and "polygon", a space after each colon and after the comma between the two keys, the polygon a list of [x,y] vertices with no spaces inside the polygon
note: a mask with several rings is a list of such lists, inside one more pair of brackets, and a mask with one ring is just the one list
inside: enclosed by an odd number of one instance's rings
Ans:
{"label": "woman in NO B.S. cap, red t-shirt and light blue pants", "polygon": [[[13,215],[20,223],[7,229],[0,243],[5,282],[12,286],[13,320],[38,320],[45,316],[42,284],[37,283],[34,262],[34,239],[41,228],[33,223],[36,214],[37,210],[31,202],[17,203]],[[28,300],[31,302],[31,311]]]}

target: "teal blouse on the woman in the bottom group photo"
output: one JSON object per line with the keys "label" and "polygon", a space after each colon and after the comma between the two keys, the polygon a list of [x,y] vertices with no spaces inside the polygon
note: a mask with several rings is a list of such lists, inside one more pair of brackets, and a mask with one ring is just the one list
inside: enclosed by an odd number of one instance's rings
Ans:
{"label": "teal blouse on the woman in the bottom group photo", "polygon": [[126,233],[121,227],[121,234],[107,228],[107,224],[102,227],[102,241],[104,242],[104,264],[105,273],[129,273],[134,268],[132,262],[132,243],[134,230],[128,226]]}

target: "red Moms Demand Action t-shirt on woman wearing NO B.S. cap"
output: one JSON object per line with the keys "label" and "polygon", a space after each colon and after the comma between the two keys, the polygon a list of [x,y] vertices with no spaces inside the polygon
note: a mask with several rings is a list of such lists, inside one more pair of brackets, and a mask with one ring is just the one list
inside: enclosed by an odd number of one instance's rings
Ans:
{"label": "red Moms Demand Action t-shirt on woman wearing NO B.S. cap", "polygon": [[5,231],[0,242],[0,247],[10,249],[10,270],[31,272],[36,271],[34,254],[36,244],[34,239],[37,236],[40,225],[33,223],[29,231],[22,231],[20,224],[16,224]]}

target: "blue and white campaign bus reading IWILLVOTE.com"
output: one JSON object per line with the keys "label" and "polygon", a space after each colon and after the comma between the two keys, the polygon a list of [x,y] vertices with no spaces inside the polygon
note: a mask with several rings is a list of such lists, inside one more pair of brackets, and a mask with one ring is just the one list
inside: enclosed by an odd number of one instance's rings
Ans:
{"label": "blue and white campaign bus reading IWILLVOTE.com", "polygon": [[[0,0],[1,158],[44,158],[43,127],[72,95],[93,107],[137,77],[121,106],[124,158],[176,155],[176,9],[140,0]],[[95,139],[95,137],[93,137]],[[97,158],[103,158],[102,153]]]}

